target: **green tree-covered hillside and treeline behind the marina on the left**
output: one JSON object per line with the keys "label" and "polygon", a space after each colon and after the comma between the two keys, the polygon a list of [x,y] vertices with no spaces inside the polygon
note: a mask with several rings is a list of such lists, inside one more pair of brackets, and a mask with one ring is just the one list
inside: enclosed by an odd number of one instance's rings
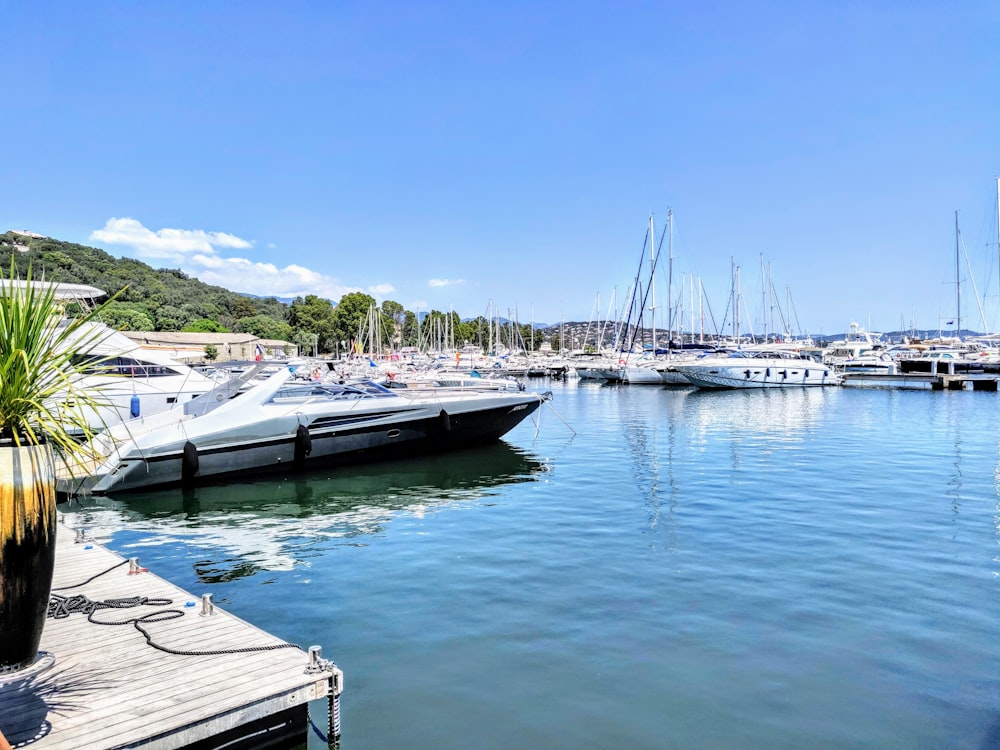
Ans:
{"label": "green tree-covered hillside and treeline behind the marina on the left", "polygon": [[87,284],[109,295],[120,292],[101,315],[119,329],[252,333],[293,342],[302,351],[330,353],[346,353],[354,342],[361,342],[364,351],[376,351],[467,343],[537,348],[542,340],[540,331],[526,325],[498,326],[482,317],[462,321],[457,312],[432,310],[418,320],[393,300],[376,308],[375,299],[361,292],[345,294],[336,304],[315,295],[285,304],[275,297],[204,284],[179,269],[154,269],[131,258],[115,258],[95,247],[17,232],[0,234],[5,275],[12,256],[21,278],[30,264],[35,278]]}

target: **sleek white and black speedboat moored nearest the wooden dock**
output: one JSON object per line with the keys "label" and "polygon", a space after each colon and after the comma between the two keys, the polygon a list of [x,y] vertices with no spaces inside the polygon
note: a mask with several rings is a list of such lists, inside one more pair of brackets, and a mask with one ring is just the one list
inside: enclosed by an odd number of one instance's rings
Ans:
{"label": "sleek white and black speedboat moored nearest the wooden dock", "polygon": [[101,494],[446,451],[499,439],[547,398],[390,390],[370,381],[303,383],[285,367],[249,389],[230,382],[106,430],[88,445],[86,467],[60,468],[57,489]]}

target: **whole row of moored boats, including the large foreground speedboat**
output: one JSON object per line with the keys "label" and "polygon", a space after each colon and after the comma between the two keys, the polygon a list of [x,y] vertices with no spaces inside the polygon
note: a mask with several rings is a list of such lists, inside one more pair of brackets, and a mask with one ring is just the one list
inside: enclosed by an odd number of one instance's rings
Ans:
{"label": "whole row of moored boats, including the large foreground speedboat", "polygon": [[908,360],[1000,365],[992,342],[949,343],[889,346],[855,326],[823,349],[719,342],[655,357],[550,357],[542,366],[537,357],[455,357],[451,365],[444,356],[390,356],[196,369],[108,331],[83,384],[99,394],[93,424],[102,429],[85,460],[61,468],[58,488],[106,493],[199,483],[497,440],[548,398],[515,377],[532,367],[632,384],[779,388],[839,385],[850,372],[891,374]]}

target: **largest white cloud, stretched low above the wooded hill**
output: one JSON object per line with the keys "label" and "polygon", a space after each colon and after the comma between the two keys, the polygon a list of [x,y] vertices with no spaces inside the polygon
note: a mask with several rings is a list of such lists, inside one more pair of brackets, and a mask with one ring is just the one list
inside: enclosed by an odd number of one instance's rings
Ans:
{"label": "largest white cloud, stretched low above the wooded hill", "polygon": [[[204,232],[200,229],[161,229],[154,232],[135,219],[109,219],[104,229],[91,233],[90,239],[130,248],[141,260],[168,259],[177,263],[189,276],[234,292],[262,297],[305,297],[314,294],[339,302],[348,292],[360,291],[358,287],[347,286],[339,279],[303,266],[279,268],[273,263],[219,255],[216,248],[245,249],[251,246],[250,242],[225,232]],[[381,284],[379,287],[389,285]]]}

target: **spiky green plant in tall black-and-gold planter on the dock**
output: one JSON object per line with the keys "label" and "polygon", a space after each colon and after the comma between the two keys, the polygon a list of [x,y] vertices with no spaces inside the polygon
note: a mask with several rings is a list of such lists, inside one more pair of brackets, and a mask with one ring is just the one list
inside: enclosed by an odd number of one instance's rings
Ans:
{"label": "spiky green plant in tall black-and-gold planter on the dock", "polygon": [[0,277],[0,674],[30,666],[48,611],[55,561],[55,458],[82,460],[99,395],[77,386],[77,355],[107,329],[100,307],[64,319],[54,284]]}

